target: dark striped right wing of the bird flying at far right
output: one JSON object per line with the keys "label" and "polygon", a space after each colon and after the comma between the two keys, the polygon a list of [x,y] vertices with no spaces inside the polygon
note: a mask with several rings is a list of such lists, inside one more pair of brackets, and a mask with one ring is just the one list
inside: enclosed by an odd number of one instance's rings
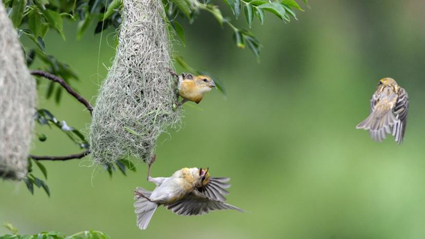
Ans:
{"label": "dark striped right wing of the bird flying at far right", "polygon": [[406,122],[408,120],[408,110],[409,110],[409,96],[408,93],[400,88],[398,91],[398,98],[396,105],[393,109],[393,112],[398,119],[393,126],[393,135],[398,144],[403,141],[404,131],[406,130]]}

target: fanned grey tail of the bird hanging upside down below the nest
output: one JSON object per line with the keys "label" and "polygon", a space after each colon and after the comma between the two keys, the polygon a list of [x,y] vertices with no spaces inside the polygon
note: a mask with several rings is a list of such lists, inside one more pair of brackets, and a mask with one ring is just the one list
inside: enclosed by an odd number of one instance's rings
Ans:
{"label": "fanned grey tail of the bird hanging upside down below the nest", "polygon": [[[147,191],[143,188],[137,187],[135,194],[136,196],[134,197],[134,199],[136,199],[137,201],[136,203],[134,203],[134,212],[137,215],[137,226],[141,230],[144,230],[147,228],[147,225],[149,225],[149,222],[152,218],[152,215],[154,215],[158,204],[153,203],[152,201],[149,201],[145,198],[149,198],[151,196],[151,191]],[[145,197],[140,196],[139,194],[142,194]]]}

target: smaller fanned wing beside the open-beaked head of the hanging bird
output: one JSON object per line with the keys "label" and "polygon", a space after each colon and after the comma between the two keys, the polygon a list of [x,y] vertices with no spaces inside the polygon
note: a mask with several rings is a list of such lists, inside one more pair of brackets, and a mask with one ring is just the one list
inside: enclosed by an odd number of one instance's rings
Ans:
{"label": "smaller fanned wing beside the open-beaked head of the hanging bird", "polygon": [[227,183],[230,178],[214,178],[212,177],[207,185],[200,187],[197,191],[205,197],[211,198],[216,201],[226,201],[225,195],[229,194],[226,190],[230,188],[230,184]]}

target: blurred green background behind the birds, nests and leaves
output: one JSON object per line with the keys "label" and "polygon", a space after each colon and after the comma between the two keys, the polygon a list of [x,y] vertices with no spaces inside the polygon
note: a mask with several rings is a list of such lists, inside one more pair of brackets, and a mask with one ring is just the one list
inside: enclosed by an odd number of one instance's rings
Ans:
{"label": "blurred green background behind the birds, nests and leaves", "polygon": [[[322,0],[303,7],[299,21],[290,24],[271,14],[264,26],[255,21],[251,30],[264,45],[260,63],[249,50],[237,49],[231,30],[221,29],[207,13],[184,24],[187,47],[175,47],[193,67],[223,81],[228,95],[214,90],[199,105],[184,106],[181,129],[159,140],[152,174],[210,167],[212,175],[232,178],[228,202],[249,213],[184,217],[162,207],[140,231],[132,191],[154,188],[145,180],[146,165],[110,179],[88,167],[85,158],[45,162],[51,198],[42,190],[32,196],[23,182],[2,181],[0,222],[21,233],[101,230],[113,239],[425,237],[420,103],[425,102],[425,2]],[[91,26],[76,41],[75,24],[66,25],[67,41],[49,32],[47,52],[78,72],[81,82],[73,86],[94,103],[114,57],[108,46],[114,45],[112,31],[101,39]],[[368,115],[378,80],[387,76],[410,96],[400,146],[391,136],[376,143],[355,129]],[[46,87],[40,87],[40,107],[71,126],[88,127],[81,104],[64,94],[58,106],[45,99]],[[34,154],[80,151],[62,132],[48,127],[37,132],[48,139],[33,140]]]}

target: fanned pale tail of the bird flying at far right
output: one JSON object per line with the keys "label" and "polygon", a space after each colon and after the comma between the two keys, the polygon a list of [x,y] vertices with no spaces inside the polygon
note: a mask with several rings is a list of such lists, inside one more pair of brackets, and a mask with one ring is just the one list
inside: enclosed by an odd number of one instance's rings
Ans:
{"label": "fanned pale tail of the bird flying at far right", "polygon": [[398,119],[391,110],[382,113],[382,111],[374,111],[365,120],[360,122],[356,128],[363,128],[369,131],[371,138],[377,142],[381,142],[386,138],[386,134],[395,135],[393,127],[398,123]]}

